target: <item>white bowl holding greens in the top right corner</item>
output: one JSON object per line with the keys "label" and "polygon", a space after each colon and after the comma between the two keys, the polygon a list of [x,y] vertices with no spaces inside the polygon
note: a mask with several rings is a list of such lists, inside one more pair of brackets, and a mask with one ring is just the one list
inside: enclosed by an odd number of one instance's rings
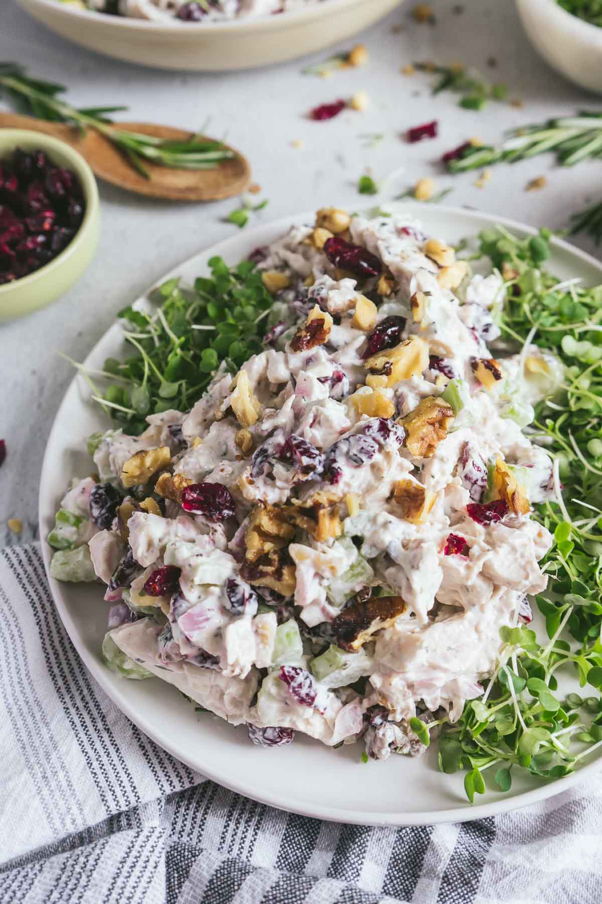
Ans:
{"label": "white bowl holding greens in the top right corner", "polygon": [[556,0],[516,0],[533,47],[552,69],[602,94],[602,28],[567,13]]}

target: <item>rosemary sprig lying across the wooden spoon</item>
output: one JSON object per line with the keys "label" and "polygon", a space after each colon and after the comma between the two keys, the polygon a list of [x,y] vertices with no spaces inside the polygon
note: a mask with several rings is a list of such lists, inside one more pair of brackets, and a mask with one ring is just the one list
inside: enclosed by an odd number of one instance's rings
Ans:
{"label": "rosemary sprig lying across the wooden spoon", "polygon": [[0,93],[4,91],[17,109],[39,119],[69,123],[82,132],[95,128],[116,145],[146,179],[151,175],[144,160],[171,169],[197,170],[215,169],[223,160],[234,156],[234,152],[220,142],[196,135],[186,141],[172,141],[116,127],[108,114],[125,107],[71,107],[60,99],[65,90],[54,82],[29,78],[17,63],[0,63]]}

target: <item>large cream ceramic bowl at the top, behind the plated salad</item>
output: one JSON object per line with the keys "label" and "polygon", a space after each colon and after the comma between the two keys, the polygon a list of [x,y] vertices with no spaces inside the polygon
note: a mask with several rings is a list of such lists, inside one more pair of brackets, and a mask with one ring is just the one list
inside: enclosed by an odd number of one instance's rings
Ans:
{"label": "large cream ceramic bowl at the top, behind the plated salad", "polygon": [[57,0],[18,0],[69,41],[154,69],[224,71],[294,60],[345,41],[402,0],[327,0],[282,15],[227,23],[147,22],[92,13]]}

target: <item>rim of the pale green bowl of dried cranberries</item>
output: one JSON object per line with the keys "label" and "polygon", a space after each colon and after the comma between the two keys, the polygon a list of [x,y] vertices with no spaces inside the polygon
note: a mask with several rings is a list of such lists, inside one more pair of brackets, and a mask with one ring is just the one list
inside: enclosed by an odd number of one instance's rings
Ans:
{"label": "rim of the pale green bowl of dried cranberries", "polygon": [[[46,278],[51,270],[61,267],[73,256],[73,254],[76,254],[86,232],[96,219],[100,208],[95,175],[92,172],[88,161],[79,154],[79,151],[77,151],[75,147],[71,147],[66,141],[61,141],[60,138],[55,138],[52,135],[44,135],[43,132],[34,132],[30,128],[2,129],[3,137],[11,137],[11,135],[14,135],[15,137],[15,149],[19,146],[20,139],[23,137],[31,137],[32,139],[35,139],[36,145],[39,145],[42,150],[48,149],[51,154],[53,149],[59,149],[62,154],[68,157],[69,160],[72,161],[70,166],[76,171],[76,175],[81,183],[81,188],[86,201],[86,210],[84,211],[83,220],[79,223],[79,228],[76,230],[73,238],[69,241],[69,245],[60,251],[55,258],[52,258],[47,264],[44,264],[43,267],[33,270],[32,273],[28,273],[27,276],[15,279],[14,282],[5,283],[4,286],[0,286],[0,302],[5,301],[5,298],[10,295],[10,292],[14,287],[18,286],[21,288],[22,286],[32,286],[34,282],[37,282],[40,278]],[[31,313],[33,313],[33,310]]]}

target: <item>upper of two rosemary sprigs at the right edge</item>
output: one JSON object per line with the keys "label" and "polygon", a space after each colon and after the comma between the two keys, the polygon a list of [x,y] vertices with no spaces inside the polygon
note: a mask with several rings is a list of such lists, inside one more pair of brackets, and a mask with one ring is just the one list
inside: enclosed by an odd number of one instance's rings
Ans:
{"label": "upper of two rosemary sprigs at the right edge", "polygon": [[579,112],[576,117],[549,119],[545,123],[513,129],[499,147],[463,146],[447,161],[450,173],[491,166],[500,160],[514,163],[554,151],[562,166],[602,156],[602,113]]}

